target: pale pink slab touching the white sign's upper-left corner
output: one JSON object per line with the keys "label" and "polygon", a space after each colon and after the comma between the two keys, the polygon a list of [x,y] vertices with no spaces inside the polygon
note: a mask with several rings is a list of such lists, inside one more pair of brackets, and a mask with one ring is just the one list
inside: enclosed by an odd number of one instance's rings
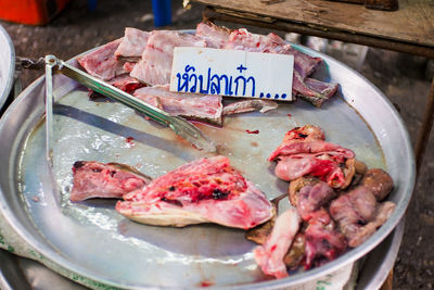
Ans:
{"label": "pale pink slab touching the white sign's upper-left corner", "polygon": [[204,48],[206,41],[199,36],[178,31],[152,31],[142,59],[130,75],[152,86],[169,84],[175,47]]}

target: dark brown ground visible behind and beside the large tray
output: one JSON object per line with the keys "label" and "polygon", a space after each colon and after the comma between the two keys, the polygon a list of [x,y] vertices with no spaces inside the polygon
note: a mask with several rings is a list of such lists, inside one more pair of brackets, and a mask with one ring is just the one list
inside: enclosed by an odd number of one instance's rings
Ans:
{"label": "dark brown ground visible behind and beside the large tray", "polygon": [[[201,21],[203,7],[193,4],[184,11],[182,1],[173,1],[169,29],[191,29]],[[17,55],[39,58],[54,54],[67,60],[124,35],[126,26],[155,29],[151,1],[105,0],[89,11],[86,0],[75,0],[49,25],[26,26],[0,22],[10,34]],[[225,24],[230,28],[239,27]],[[254,31],[264,33],[264,29]],[[342,62],[354,64],[348,55],[331,52]],[[360,73],[380,88],[400,109],[413,144],[421,125],[426,96],[433,77],[433,63],[420,56],[369,48]],[[39,72],[24,72],[24,86]],[[426,148],[418,182],[406,215],[406,231],[394,268],[394,289],[434,287],[434,136]]]}

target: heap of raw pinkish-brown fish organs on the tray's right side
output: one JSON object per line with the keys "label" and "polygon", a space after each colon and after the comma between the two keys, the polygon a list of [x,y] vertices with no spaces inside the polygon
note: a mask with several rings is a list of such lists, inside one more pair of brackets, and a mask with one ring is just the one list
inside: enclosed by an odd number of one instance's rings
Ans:
{"label": "heap of raw pinkish-brown fish organs on the tray's right side", "polygon": [[255,260],[267,275],[288,276],[288,269],[308,269],[334,260],[371,237],[395,210],[383,201],[393,189],[391,176],[368,169],[355,153],[324,141],[321,128],[307,125],[290,130],[271,153],[276,175],[290,181],[294,206],[246,238],[260,245]]}

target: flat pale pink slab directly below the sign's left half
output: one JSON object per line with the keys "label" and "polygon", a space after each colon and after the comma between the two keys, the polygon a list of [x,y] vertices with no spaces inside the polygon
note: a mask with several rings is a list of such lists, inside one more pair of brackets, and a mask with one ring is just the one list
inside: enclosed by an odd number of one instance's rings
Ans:
{"label": "flat pale pink slab directly below the sign's left half", "polygon": [[144,87],[133,96],[176,116],[221,126],[221,96],[169,91],[169,85]]}

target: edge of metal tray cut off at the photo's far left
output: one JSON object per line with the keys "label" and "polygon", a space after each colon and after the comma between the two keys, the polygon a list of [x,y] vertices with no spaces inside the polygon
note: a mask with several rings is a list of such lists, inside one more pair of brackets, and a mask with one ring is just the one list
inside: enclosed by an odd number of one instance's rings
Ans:
{"label": "edge of metal tray cut off at the photo's far left", "polygon": [[7,30],[0,25],[0,111],[12,89],[15,73],[15,50]]}

